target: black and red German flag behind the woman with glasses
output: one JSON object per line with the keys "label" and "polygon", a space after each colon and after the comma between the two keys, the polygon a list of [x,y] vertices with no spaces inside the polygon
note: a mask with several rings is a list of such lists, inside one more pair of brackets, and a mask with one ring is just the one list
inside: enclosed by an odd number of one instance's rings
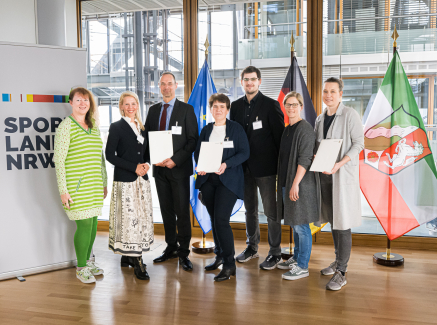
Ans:
{"label": "black and red German flag behind the woman with glasses", "polygon": [[316,111],[314,110],[313,101],[308,93],[305,79],[302,76],[296,57],[293,57],[293,61],[291,62],[290,69],[288,69],[287,76],[285,77],[284,84],[282,85],[278,97],[278,102],[281,104],[281,110],[284,113],[284,122],[286,126],[288,125],[288,116],[287,113],[285,113],[282,101],[284,100],[285,95],[290,91],[297,91],[302,95],[304,102],[303,111],[301,113],[302,118],[314,127],[317,117]]}

